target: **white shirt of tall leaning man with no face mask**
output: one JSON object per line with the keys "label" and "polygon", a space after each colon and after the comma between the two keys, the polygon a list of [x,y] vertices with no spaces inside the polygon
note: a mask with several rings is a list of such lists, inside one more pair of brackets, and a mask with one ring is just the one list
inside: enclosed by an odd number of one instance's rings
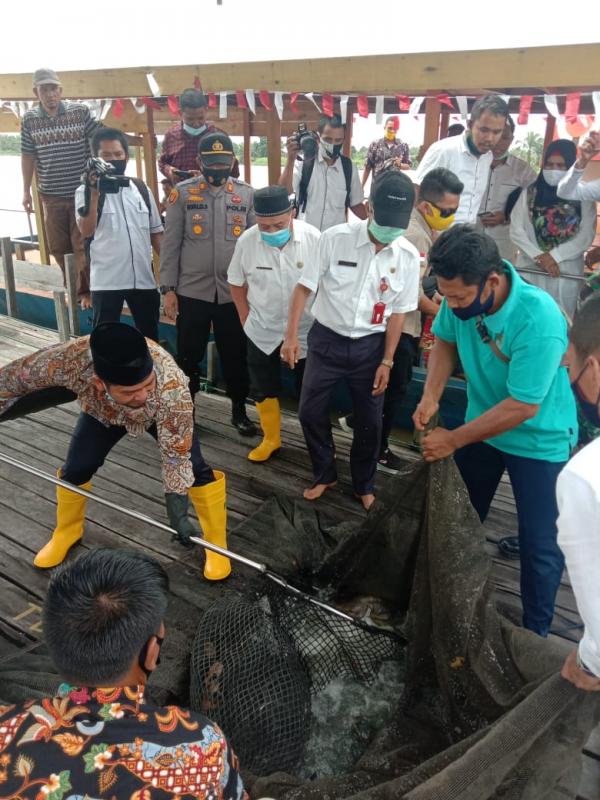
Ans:
{"label": "white shirt of tall leaning man with no face mask", "polygon": [[416,170],[415,181],[421,183],[425,175],[437,167],[453,172],[464,184],[454,223],[477,222],[481,200],[487,189],[492,152],[475,156],[469,150],[466,132],[462,136],[449,136],[434,142],[427,150]]}

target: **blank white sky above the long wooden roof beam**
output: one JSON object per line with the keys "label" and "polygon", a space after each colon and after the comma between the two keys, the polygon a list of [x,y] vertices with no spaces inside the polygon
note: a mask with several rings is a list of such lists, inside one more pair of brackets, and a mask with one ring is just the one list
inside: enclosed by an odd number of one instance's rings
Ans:
{"label": "blank white sky above the long wooden roof beam", "polygon": [[584,43],[600,4],[559,17],[549,24],[535,0],[4,0],[0,72]]}

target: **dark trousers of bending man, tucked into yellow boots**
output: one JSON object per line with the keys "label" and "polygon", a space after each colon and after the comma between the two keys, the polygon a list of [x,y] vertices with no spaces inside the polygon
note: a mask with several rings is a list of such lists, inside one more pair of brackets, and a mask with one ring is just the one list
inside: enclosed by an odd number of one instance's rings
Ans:
{"label": "dark trousers of bending man, tucked into yellow boots", "polygon": [[[120,425],[103,425],[95,417],[82,412],[71,437],[67,459],[61,470],[61,478],[75,486],[87,483],[104,464],[106,456],[125,436],[127,430]],[[156,425],[148,433],[157,438]],[[198,435],[194,432],[190,452],[194,470],[194,486],[204,486],[214,481],[212,469],[208,466],[202,452]]]}

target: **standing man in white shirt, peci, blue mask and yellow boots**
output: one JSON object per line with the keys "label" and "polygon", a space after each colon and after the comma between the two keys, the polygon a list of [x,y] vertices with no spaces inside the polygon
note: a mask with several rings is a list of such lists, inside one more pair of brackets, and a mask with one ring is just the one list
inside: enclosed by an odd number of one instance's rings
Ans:
{"label": "standing man in white shirt, peci, blue mask and yellow boots", "polygon": [[[281,447],[281,344],[292,292],[311,263],[317,263],[320,232],[294,219],[285,186],[267,186],[254,193],[256,225],[240,236],[229,264],[231,297],[248,339],[251,391],[263,430],[263,440],[248,454],[250,461],[267,461]],[[296,364],[298,393],[306,358],[306,337],[313,323],[304,311]]]}

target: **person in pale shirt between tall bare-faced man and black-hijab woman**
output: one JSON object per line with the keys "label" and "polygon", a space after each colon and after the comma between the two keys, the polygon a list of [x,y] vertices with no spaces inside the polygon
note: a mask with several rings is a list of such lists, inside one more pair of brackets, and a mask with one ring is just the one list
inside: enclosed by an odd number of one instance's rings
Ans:
{"label": "person in pale shirt between tall bare-faced man and black-hijab woman", "polygon": [[506,203],[515,189],[525,189],[537,178],[537,173],[526,161],[509,155],[514,135],[515,123],[509,116],[502,136],[492,149],[494,160],[477,215],[478,229],[496,242],[501,257],[511,264],[515,262],[517,248],[510,238],[510,216],[506,213]]}

